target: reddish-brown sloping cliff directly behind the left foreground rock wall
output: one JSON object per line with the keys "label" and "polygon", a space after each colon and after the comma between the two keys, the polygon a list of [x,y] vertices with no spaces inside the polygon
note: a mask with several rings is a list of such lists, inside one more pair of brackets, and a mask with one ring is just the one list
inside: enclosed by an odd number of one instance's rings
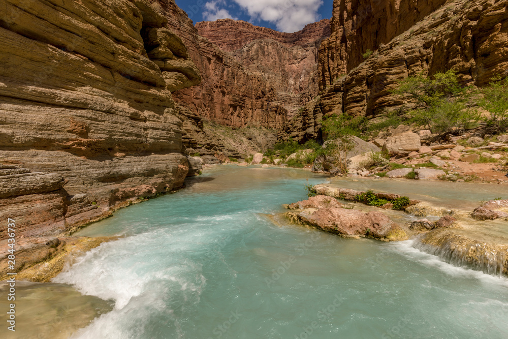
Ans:
{"label": "reddish-brown sloping cliff directly behind the left foreground rock wall", "polygon": [[194,115],[232,127],[275,129],[287,112],[275,88],[263,76],[245,70],[234,57],[203,38],[174,0],[150,0],[160,7],[168,26],[182,38],[203,81],[175,93],[175,100]]}

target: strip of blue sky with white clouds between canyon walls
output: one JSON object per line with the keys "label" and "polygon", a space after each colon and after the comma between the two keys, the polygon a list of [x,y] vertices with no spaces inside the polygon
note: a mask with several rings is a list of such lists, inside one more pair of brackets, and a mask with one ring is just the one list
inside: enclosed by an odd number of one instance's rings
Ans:
{"label": "strip of blue sky with white clouds between canyon walls", "polygon": [[194,23],[221,18],[245,20],[280,32],[332,17],[333,0],[175,0]]}

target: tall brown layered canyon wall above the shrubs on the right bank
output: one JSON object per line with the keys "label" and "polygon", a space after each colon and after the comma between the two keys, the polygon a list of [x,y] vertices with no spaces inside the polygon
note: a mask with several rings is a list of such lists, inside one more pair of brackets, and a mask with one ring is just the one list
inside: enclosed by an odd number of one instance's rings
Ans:
{"label": "tall brown layered canyon wall above the shrubs on the right bank", "polygon": [[[482,86],[508,67],[507,0],[334,1],[319,52],[324,113],[370,115],[404,104],[390,94],[409,75],[454,68]],[[367,49],[374,53],[366,60]],[[362,62],[363,61],[363,62]],[[348,73],[346,76],[342,76]]]}

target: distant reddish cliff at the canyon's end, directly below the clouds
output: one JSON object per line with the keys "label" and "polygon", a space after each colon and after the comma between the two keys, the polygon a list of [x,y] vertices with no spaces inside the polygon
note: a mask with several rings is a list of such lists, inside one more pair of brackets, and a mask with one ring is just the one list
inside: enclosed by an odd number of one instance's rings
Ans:
{"label": "distant reddish cliff at the canyon's end, directly below the clouds", "polygon": [[317,50],[330,35],[330,20],[310,23],[295,33],[280,33],[245,21],[198,22],[198,32],[234,55],[245,70],[261,75],[278,93],[291,118],[319,93]]}

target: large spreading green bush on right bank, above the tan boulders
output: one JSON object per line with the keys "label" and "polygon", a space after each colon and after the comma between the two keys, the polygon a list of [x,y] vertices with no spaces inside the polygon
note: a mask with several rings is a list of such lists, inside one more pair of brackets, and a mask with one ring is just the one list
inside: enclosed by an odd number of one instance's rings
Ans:
{"label": "large spreading green bush on right bank, above the tan boulders", "polygon": [[480,119],[478,112],[466,108],[470,95],[461,88],[454,70],[433,77],[408,77],[399,82],[393,93],[414,99],[417,109],[410,113],[411,122],[433,133],[465,130]]}

